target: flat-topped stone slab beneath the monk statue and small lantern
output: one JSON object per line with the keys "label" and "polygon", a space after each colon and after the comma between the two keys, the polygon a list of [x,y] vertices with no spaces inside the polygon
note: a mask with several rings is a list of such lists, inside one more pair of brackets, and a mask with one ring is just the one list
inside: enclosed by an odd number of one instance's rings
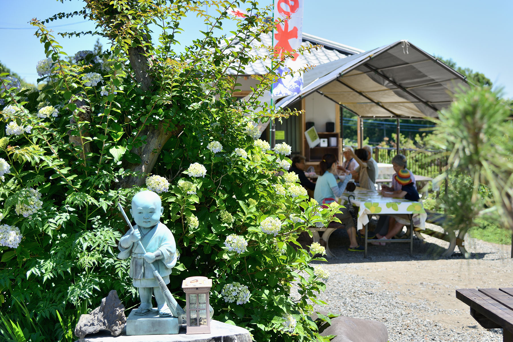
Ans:
{"label": "flat-topped stone slab beneath the monk statue and small lantern", "polygon": [[244,328],[210,320],[210,334],[186,335],[185,324],[180,325],[180,333],[172,335],[131,335],[124,330],[119,336],[93,334],[75,342],[251,342],[251,334]]}

